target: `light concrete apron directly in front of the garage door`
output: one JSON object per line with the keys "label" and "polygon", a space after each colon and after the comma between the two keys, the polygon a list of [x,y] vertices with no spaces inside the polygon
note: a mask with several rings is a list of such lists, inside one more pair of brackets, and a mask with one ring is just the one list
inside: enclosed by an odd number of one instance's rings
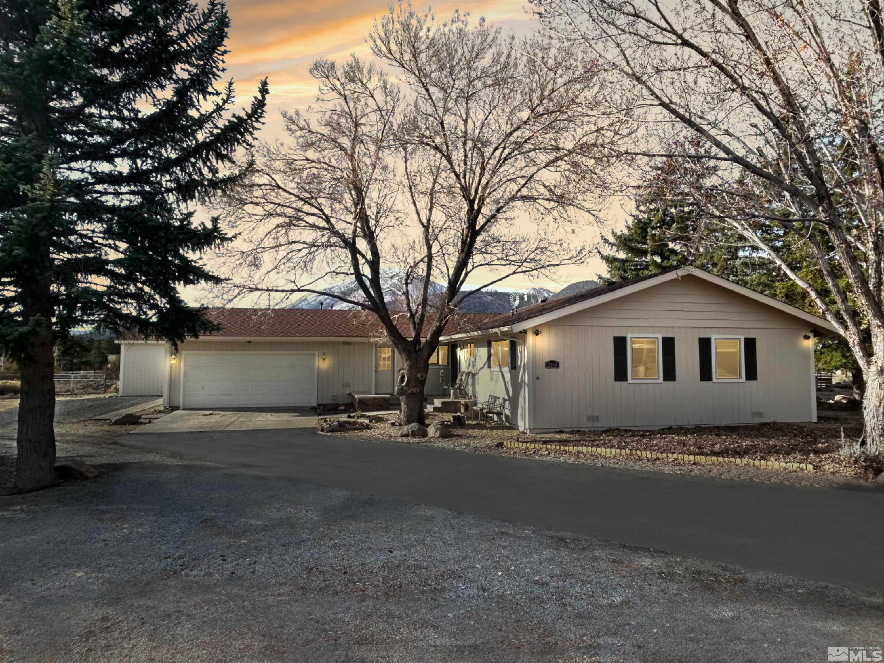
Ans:
{"label": "light concrete apron directly in front of the garage door", "polygon": [[309,409],[279,410],[177,410],[134,433],[193,433],[201,431],[272,431],[316,427]]}

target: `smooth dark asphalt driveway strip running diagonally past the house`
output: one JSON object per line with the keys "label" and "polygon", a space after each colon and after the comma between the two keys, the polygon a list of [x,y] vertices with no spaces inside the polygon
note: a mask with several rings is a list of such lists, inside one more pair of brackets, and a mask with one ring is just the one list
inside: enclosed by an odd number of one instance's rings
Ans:
{"label": "smooth dark asphalt driveway strip running diagonally past the house", "polygon": [[161,433],[127,446],[827,583],[884,591],[884,492],[798,488],[334,438]]}

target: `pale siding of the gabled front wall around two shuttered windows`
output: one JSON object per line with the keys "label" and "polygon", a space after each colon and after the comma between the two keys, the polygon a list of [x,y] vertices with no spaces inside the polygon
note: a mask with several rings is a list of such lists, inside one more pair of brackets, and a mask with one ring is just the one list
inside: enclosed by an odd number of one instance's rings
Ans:
{"label": "pale siding of the gabled front wall around two shuttered windows", "polygon": [[[530,430],[812,421],[809,328],[690,276],[562,316],[527,336]],[[674,382],[614,382],[613,337],[643,333],[675,338]],[[697,338],[715,334],[757,339],[758,380],[700,382]]]}

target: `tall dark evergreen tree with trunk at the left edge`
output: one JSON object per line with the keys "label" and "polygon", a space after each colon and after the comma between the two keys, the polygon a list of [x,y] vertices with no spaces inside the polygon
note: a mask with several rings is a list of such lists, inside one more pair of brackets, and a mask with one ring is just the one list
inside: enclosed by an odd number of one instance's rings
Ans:
{"label": "tall dark evergreen tree with trunk at the left edge", "polygon": [[16,486],[54,482],[52,347],[98,324],[210,329],[178,286],[228,240],[192,203],[261,124],[221,88],[230,19],[187,0],[0,0],[0,347],[21,369]]}

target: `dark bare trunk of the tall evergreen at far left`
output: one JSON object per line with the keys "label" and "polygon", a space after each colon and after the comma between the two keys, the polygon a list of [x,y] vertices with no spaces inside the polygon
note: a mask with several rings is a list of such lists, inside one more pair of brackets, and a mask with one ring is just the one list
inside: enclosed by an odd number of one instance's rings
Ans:
{"label": "dark bare trunk of the tall evergreen at far left", "polygon": [[[34,320],[28,316],[27,319]],[[35,491],[54,484],[55,476],[55,362],[49,316],[36,320],[25,355],[21,358],[18,456],[15,489]]]}

